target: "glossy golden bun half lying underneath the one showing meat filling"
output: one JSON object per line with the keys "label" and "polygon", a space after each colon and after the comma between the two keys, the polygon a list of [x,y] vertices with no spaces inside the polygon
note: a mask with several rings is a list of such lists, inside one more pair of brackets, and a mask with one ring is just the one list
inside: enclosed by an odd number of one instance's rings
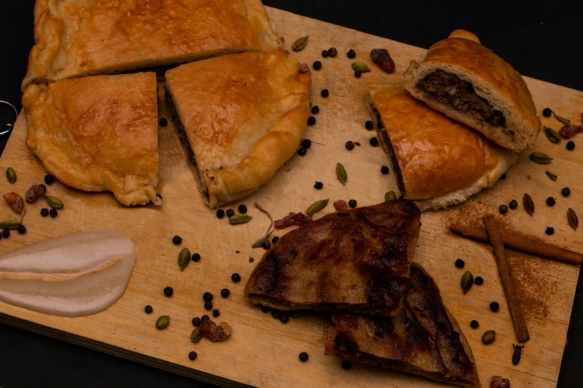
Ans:
{"label": "glossy golden bun half lying underneath the one showing meat filling", "polygon": [[402,84],[370,84],[368,107],[399,189],[428,210],[491,187],[516,153],[411,97]]}

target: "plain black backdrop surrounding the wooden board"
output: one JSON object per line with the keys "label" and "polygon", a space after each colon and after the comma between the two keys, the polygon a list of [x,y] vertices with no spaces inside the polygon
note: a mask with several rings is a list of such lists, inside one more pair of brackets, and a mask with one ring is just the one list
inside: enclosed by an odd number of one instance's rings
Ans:
{"label": "plain black backdrop surrounding the wooden board", "polygon": [[[263,3],[423,48],[447,37],[453,29],[468,29],[519,73],[583,90],[582,1],[289,0]],[[9,101],[19,110],[20,84],[28,52],[34,44],[33,7],[32,0],[0,1],[0,99]],[[13,120],[12,112],[0,107],[0,125]],[[580,279],[559,387],[579,387],[583,381],[582,289]],[[487,386],[489,382],[482,383]],[[39,386],[208,385],[0,324],[0,387]]]}

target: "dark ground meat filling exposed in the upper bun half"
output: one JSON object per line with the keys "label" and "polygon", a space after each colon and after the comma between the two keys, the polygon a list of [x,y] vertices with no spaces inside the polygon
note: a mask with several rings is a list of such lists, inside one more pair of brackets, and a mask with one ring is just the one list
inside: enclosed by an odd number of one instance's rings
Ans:
{"label": "dark ground meat filling exposed in the upper bun half", "polygon": [[480,121],[485,121],[495,127],[505,125],[502,112],[495,110],[488,101],[479,97],[472,84],[460,80],[457,75],[436,70],[420,80],[416,87],[440,104],[471,114]]}

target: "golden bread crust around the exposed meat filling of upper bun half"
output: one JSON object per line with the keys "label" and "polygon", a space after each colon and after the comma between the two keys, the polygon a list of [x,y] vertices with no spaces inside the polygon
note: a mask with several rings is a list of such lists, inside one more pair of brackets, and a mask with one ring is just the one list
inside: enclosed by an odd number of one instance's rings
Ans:
{"label": "golden bread crust around the exposed meat filling of upper bun half", "polygon": [[[505,124],[488,123],[473,114],[438,101],[419,88],[419,82],[435,71],[445,71],[469,82],[475,93],[501,112]],[[519,152],[532,147],[540,131],[540,119],[526,83],[510,64],[482,46],[474,34],[456,30],[431,46],[409,64],[403,85],[431,108],[478,130],[502,147]]]}

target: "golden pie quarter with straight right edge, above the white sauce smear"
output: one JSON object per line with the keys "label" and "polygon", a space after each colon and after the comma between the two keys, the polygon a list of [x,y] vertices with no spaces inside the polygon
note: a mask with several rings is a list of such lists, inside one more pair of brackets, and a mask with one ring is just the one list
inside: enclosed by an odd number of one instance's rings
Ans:
{"label": "golden pie quarter with straight right edge, above the white sauce smear", "polygon": [[161,204],[155,73],[30,84],[22,104],[26,146],[60,182],[128,206]]}

